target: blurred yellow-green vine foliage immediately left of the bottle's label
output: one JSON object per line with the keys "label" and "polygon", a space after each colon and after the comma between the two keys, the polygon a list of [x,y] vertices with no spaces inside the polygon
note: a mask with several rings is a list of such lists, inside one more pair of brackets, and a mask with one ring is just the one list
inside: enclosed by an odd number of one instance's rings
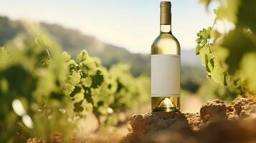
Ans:
{"label": "blurred yellow-green vine foliage immediately left of the bottle's label", "polygon": [[[115,99],[110,106],[114,110],[123,111],[127,107],[136,107],[136,105],[141,102],[148,100],[148,95],[150,94],[149,90],[138,87],[141,85],[150,87],[150,80],[148,77],[134,78],[129,74],[130,68],[128,64],[117,64],[110,69],[111,77],[117,81]],[[135,100],[138,102],[134,102]]]}

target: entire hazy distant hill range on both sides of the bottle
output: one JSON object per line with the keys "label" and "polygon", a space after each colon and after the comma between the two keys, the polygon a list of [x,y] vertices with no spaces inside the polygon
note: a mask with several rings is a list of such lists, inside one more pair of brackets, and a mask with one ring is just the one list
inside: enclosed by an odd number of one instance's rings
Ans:
{"label": "entire hazy distant hill range on both sides of the bottle", "polygon": [[[82,49],[86,49],[90,55],[98,56],[107,68],[122,62],[131,64],[131,71],[135,76],[150,74],[150,55],[148,54],[133,54],[122,47],[99,41],[94,36],[81,34],[80,31],[67,29],[58,24],[41,23],[41,26],[60,43],[63,50],[74,58]],[[6,41],[13,39],[20,31],[24,31],[20,21],[11,21],[7,17],[0,16],[0,46],[4,46]],[[182,50],[181,62],[189,66],[200,67],[201,65],[194,50]]]}

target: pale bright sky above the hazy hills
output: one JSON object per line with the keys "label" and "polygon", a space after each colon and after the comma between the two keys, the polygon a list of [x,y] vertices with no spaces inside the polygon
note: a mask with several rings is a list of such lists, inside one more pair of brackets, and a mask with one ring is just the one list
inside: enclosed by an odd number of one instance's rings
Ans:
{"label": "pale bright sky above the hazy hills", "polygon": [[[197,0],[173,0],[172,32],[181,49],[196,46],[196,32],[214,14]],[[159,34],[160,0],[0,0],[0,15],[61,24],[135,53],[149,53]]]}

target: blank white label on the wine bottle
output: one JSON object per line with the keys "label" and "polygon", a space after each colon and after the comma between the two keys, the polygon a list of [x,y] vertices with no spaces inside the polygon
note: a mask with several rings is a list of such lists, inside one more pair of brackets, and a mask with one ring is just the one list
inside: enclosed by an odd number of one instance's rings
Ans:
{"label": "blank white label on the wine bottle", "polygon": [[179,55],[151,55],[151,97],[179,97],[180,74]]}

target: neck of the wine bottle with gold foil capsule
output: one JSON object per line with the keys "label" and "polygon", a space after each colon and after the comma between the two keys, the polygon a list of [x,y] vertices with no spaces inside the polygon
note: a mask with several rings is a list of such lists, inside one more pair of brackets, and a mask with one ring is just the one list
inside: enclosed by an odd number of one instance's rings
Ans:
{"label": "neck of the wine bottle with gold foil capsule", "polygon": [[161,3],[160,15],[160,32],[161,34],[171,34],[171,3]]}

